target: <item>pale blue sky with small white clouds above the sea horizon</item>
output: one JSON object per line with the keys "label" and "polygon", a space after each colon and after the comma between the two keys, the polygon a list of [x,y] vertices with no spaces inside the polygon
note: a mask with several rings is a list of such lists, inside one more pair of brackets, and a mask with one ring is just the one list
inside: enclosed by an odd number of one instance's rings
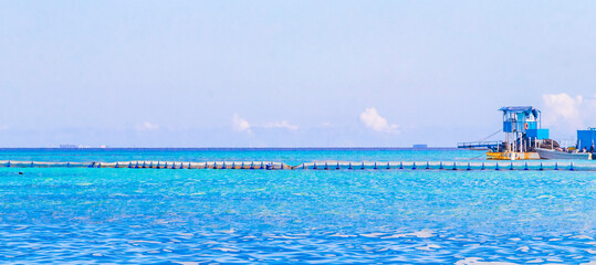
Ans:
{"label": "pale blue sky with small white clouds above the sea horizon", "polygon": [[[2,1],[0,146],[454,146],[596,126],[594,1]],[[496,136],[493,139],[499,139]]]}

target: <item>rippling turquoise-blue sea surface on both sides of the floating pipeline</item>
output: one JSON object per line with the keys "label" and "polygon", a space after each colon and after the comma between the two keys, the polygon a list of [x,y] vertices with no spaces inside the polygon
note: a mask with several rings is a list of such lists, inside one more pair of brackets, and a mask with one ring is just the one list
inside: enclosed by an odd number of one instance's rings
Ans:
{"label": "rippling turquoise-blue sea surface on both sides of the floating pipeline", "polygon": [[[483,155],[1,149],[0,160],[299,165]],[[595,195],[589,171],[0,168],[0,264],[596,264]]]}

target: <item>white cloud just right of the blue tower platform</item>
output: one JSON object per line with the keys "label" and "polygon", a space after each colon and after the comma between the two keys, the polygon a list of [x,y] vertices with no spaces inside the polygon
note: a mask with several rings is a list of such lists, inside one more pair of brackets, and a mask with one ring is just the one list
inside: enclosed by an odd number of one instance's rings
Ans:
{"label": "white cloud just right of the blue tower platform", "polygon": [[542,95],[545,113],[544,123],[546,126],[557,123],[565,123],[575,128],[583,127],[582,108],[584,98],[576,96],[575,98],[566,93],[561,94],[544,94]]}

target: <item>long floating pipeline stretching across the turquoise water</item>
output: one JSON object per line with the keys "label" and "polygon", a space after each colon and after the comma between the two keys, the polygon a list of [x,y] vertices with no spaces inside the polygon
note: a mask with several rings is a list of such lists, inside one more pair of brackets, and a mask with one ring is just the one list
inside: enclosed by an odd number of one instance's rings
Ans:
{"label": "long floating pipeline stretching across the turquoise water", "polygon": [[572,170],[596,171],[596,162],[577,161],[323,161],[289,166],[273,161],[119,161],[43,162],[0,161],[0,168],[129,168],[129,169],[262,169],[262,170]]}

